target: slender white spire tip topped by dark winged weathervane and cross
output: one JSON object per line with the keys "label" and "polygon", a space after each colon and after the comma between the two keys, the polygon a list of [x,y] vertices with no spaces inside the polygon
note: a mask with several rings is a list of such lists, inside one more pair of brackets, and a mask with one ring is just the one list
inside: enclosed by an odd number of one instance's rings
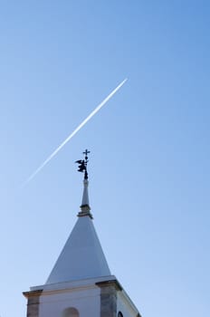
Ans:
{"label": "slender white spire tip topped by dark winged weathervane and cross", "polygon": [[83,180],[83,195],[81,200],[81,212],[78,214],[78,216],[91,216],[91,207],[89,205],[89,195],[88,195],[88,171],[87,171],[87,165],[88,165],[88,154],[91,153],[88,149],[85,149],[83,152],[84,159],[79,159],[75,163],[79,164],[78,166],[78,172],[83,173],[84,172],[84,180]]}

